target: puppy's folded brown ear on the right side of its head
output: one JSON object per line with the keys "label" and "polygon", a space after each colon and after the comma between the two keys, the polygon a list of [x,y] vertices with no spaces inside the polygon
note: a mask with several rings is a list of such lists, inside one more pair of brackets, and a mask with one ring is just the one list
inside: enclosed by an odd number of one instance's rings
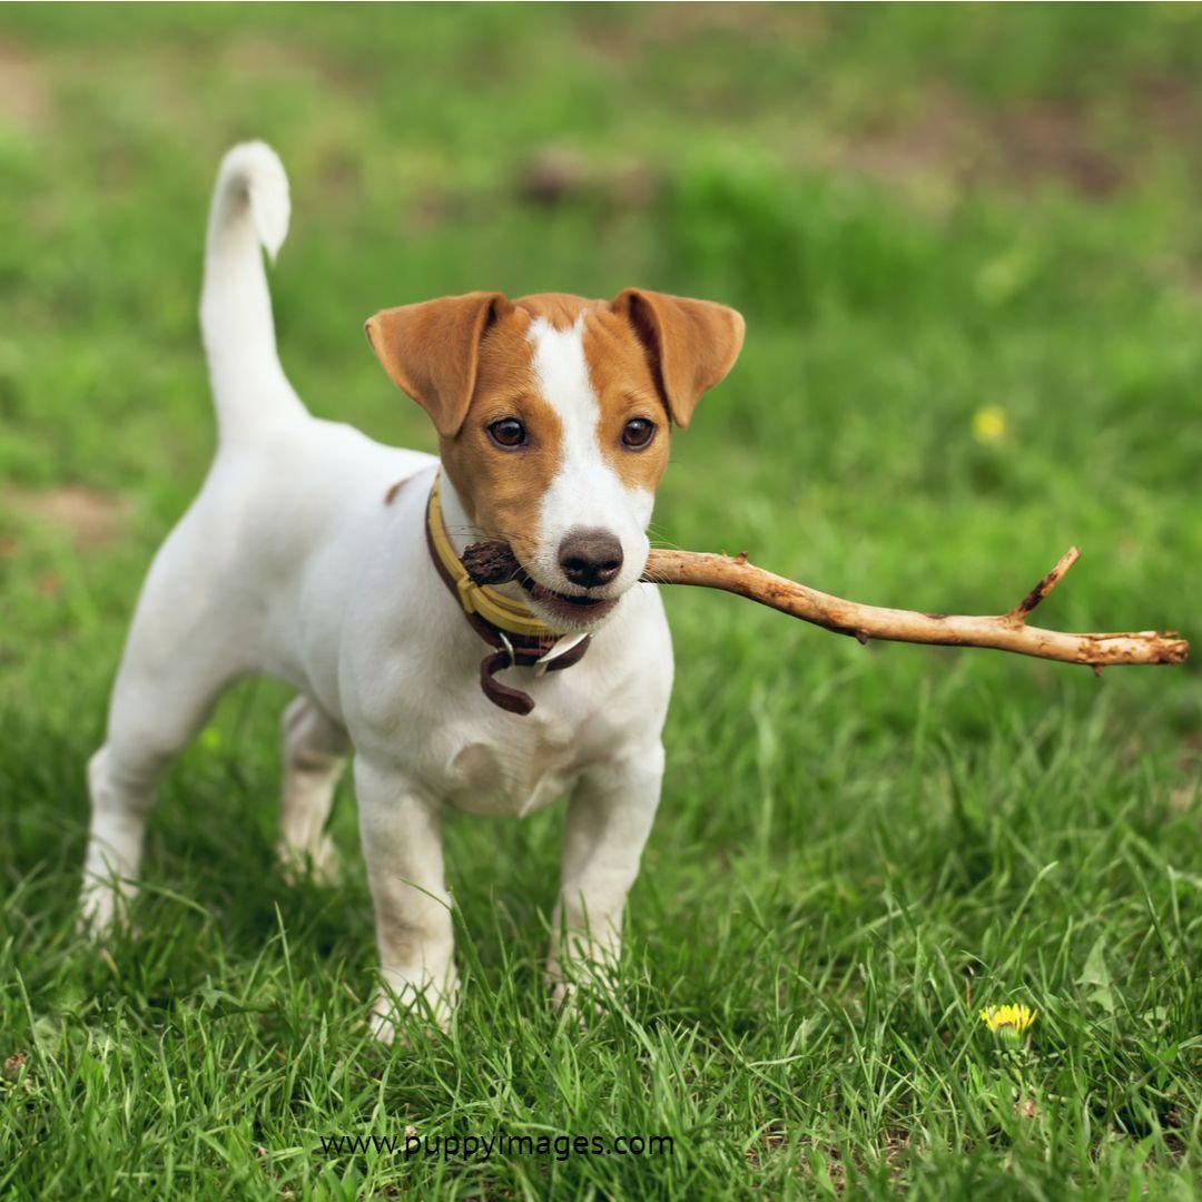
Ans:
{"label": "puppy's folded brown ear on the right side of its head", "polygon": [[712,300],[626,288],[611,305],[635,327],[677,426],[688,426],[701,394],[720,383],[743,349],[742,314]]}

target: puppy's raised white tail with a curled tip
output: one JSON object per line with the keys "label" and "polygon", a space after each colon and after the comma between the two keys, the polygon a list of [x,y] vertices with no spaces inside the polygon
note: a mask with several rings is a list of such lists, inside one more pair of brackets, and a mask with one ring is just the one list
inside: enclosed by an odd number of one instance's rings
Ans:
{"label": "puppy's raised white tail with a curled tip", "polygon": [[272,261],[288,232],[288,178],[264,142],[221,160],[209,209],[201,332],[222,441],[304,413],[275,350],[262,250]]}

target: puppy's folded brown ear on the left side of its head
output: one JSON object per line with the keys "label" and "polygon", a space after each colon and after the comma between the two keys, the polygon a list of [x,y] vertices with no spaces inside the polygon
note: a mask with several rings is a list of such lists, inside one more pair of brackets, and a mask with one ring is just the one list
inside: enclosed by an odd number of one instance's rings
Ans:
{"label": "puppy's folded brown ear on the left side of its head", "polygon": [[469,292],[385,309],[368,320],[368,341],[392,382],[450,439],[468,416],[480,340],[512,308],[500,292]]}

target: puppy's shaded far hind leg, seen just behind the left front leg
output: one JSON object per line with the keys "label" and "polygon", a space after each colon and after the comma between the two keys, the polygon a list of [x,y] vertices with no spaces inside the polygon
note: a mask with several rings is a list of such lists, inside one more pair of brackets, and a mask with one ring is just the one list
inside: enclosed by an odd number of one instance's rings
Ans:
{"label": "puppy's shaded far hind leg, seen just behind the left front leg", "polygon": [[280,803],[279,855],[285,873],[309,870],[322,881],[338,873],[338,851],[325,833],[338,778],[346,764],[346,731],[304,695],[280,722],[284,739],[284,795]]}

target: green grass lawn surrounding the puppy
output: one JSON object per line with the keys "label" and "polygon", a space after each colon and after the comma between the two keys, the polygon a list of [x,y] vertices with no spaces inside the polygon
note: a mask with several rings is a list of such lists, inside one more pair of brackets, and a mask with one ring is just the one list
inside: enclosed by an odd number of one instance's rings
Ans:
{"label": "green grass lawn surrounding the puppy", "polygon": [[[138,582],[213,447],[195,308],[231,142],[291,173],[273,290],[314,411],[432,447],[363,341],[386,304],[722,299],[746,351],[677,438],[665,541],[963,612],[1078,542],[1041,621],[1197,636],[1200,67],[1196,7],[5,8],[0,1195],[1192,1197],[1196,668],[671,596],[664,804],[585,1031],[538,982],[551,811],[448,823],[463,1006],[370,1041],[353,798],[346,883],[286,887],[268,682],[165,784],[141,938],[97,958],[73,900]],[[548,147],[584,182],[545,206]],[[976,1017],[1011,1000],[1025,1045]],[[674,1150],[319,1150],[406,1125]]]}

